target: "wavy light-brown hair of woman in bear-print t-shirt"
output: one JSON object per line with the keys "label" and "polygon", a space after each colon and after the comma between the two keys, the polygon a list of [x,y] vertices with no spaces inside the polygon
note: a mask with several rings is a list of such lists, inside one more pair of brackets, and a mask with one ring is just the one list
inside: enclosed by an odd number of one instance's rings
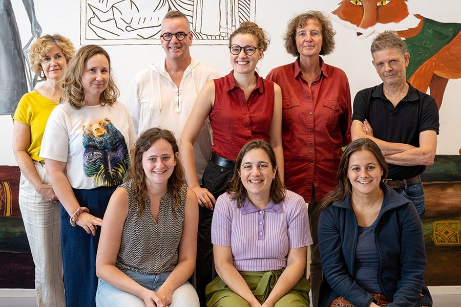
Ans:
{"label": "wavy light-brown hair of woman in bear-print t-shirt", "polygon": [[80,48],[67,66],[61,80],[61,102],[69,102],[74,108],[79,109],[86,105],[85,90],[81,84],[81,76],[87,61],[96,54],[102,54],[109,63],[109,80],[106,89],[99,96],[99,104],[112,105],[117,101],[120,92],[112,77],[111,58],[106,50],[97,45],[88,45]]}

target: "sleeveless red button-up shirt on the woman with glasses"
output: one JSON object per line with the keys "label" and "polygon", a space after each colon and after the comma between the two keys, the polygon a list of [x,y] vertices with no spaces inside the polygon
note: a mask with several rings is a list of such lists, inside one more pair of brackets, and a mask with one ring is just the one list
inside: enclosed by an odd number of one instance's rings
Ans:
{"label": "sleeveless red button-up shirt on the woman with glasses", "polygon": [[270,122],[274,114],[274,82],[256,72],[256,86],[245,99],[235,84],[234,71],[215,79],[215,101],[209,114],[213,129],[213,151],[220,157],[235,160],[250,140],[270,139]]}

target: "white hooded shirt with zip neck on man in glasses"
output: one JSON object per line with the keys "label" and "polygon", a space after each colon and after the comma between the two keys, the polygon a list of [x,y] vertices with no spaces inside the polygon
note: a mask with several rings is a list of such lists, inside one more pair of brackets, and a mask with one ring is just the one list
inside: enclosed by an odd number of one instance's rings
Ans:
{"label": "white hooded shirt with zip neck on man in glasses", "polygon": [[[140,71],[135,76],[130,100],[125,102],[137,136],[149,128],[160,127],[172,131],[179,143],[197,94],[206,81],[219,77],[216,71],[194,58],[184,71],[179,87],[166,71],[165,59]],[[211,146],[211,127],[206,119],[194,143],[199,182],[208,163]]]}

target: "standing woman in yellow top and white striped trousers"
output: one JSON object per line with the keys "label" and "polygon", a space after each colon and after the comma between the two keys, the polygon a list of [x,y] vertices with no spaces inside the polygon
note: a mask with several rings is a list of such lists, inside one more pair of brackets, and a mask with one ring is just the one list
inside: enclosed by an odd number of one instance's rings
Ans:
{"label": "standing woman in yellow top and white striped trousers", "polygon": [[32,70],[45,83],[21,98],[13,117],[13,152],[21,170],[19,208],[34,259],[39,307],[65,304],[59,201],[38,153],[48,117],[61,98],[60,80],[74,53],[72,42],[59,34],[41,36],[32,44]]}

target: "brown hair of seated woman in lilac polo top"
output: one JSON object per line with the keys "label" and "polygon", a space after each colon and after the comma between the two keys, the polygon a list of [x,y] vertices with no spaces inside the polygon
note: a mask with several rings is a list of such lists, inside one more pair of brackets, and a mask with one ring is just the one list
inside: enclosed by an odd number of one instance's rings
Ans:
{"label": "brown hair of seated woman in lilac polo top", "polygon": [[[245,146],[242,147],[242,149],[239,152],[239,155],[237,156],[237,160],[235,161],[234,173],[232,174],[231,181],[230,181],[231,188],[227,190],[229,195],[231,195],[231,199],[237,200],[237,207],[239,208],[242,206],[247,196],[246,189],[243,186],[243,183],[242,183],[242,180],[239,174],[240,166],[242,165],[243,157],[246,155],[248,151],[252,149],[264,150],[267,153],[267,156],[269,157],[269,161],[270,161],[272,168],[275,169],[277,166],[274,149],[272,149],[272,147],[267,141],[253,140],[253,141],[249,141],[248,143],[245,144]],[[285,199],[285,192],[286,192],[286,188],[283,185],[282,181],[280,180],[279,172],[277,171],[275,174],[275,179],[270,184],[270,192],[269,192],[270,200],[273,201],[275,204],[280,203],[281,201]]]}

